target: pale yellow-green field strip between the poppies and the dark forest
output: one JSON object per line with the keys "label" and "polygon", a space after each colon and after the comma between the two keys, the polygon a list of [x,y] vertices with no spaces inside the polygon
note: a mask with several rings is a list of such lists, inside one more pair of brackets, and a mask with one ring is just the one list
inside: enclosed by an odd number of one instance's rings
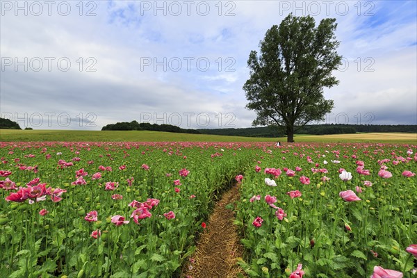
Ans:
{"label": "pale yellow-green field strip between the poppies and the dark forest", "polygon": [[[160,131],[67,131],[0,129],[0,141],[124,141],[124,142],[286,142],[286,138],[253,138]],[[417,144],[417,133],[356,133],[324,136],[296,135],[295,142],[398,142]]]}

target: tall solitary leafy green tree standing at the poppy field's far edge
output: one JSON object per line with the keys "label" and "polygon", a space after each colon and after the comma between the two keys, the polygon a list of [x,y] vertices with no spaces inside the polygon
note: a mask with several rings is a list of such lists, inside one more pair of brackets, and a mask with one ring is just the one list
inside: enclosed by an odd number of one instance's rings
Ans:
{"label": "tall solitary leafy green tree standing at the poppy field's far edge", "polygon": [[254,126],[279,126],[294,142],[296,126],[324,120],[332,111],[333,101],[323,97],[323,88],[338,84],[332,76],[342,58],[336,52],[335,22],[322,19],[316,28],[313,17],[288,15],[265,33],[259,56],[250,52],[250,79],[243,90],[246,107],[256,111]]}

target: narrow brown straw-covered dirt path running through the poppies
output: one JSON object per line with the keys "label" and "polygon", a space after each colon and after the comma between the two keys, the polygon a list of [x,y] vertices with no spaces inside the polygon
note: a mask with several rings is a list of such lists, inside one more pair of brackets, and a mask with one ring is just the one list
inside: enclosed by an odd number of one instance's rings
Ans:
{"label": "narrow brown straw-covered dirt path running through the poppies", "polygon": [[236,264],[236,258],[242,256],[243,247],[233,224],[234,211],[228,209],[230,206],[226,208],[227,204],[234,204],[238,198],[238,185],[235,185],[215,205],[192,257],[195,262],[188,264],[188,271],[183,277],[235,278],[239,273],[243,275],[243,270]]}

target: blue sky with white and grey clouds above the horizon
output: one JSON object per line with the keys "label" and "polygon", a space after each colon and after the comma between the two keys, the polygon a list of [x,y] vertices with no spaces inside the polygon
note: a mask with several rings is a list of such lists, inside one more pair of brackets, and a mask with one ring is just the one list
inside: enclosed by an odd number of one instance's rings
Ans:
{"label": "blue sky with white and grey clouds above the horizon", "polygon": [[247,59],[289,14],[336,18],[328,124],[417,124],[417,1],[0,1],[0,116],[22,128],[252,126]]}

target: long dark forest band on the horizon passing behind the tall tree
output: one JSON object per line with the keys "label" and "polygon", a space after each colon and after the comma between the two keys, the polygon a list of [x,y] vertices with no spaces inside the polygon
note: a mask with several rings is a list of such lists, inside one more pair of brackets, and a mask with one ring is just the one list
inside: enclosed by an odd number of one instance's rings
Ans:
{"label": "long dark forest band on the horizon passing behind the tall tree", "polygon": [[[282,137],[285,132],[275,126],[248,127],[244,129],[181,129],[179,126],[171,124],[150,124],[149,122],[138,123],[117,122],[104,126],[102,131],[166,131],[176,133],[197,133],[213,134],[224,136],[246,136],[246,137]],[[375,125],[375,124],[316,124],[306,125],[297,129],[297,134],[342,134],[357,132],[409,132],[417,133],[417,125]]]}

